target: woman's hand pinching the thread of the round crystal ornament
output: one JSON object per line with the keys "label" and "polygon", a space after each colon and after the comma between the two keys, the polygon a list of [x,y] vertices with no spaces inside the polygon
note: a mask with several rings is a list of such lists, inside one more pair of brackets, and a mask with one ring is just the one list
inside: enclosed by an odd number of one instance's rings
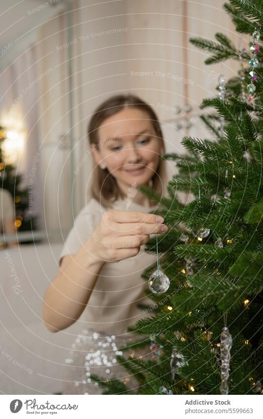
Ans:
{"label": "woman's hand pinching the thread of the round crystal ornament", "polygon": [[164,233],[168,227],[154,214],[109,210],[88,239],[89,251],[98,261],[119,262],[136,256],[150,234]]}

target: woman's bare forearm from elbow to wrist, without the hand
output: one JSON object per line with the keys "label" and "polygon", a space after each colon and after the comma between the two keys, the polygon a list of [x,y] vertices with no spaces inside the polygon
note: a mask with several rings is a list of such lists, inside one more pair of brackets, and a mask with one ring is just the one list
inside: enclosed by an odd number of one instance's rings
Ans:
{"label": "woman's bare forearm from elbow to wrist, without the hand", "polygon": [[42,318],[51,332],[75,323],[89,301],[105,263],[93,257],[91,241],[92,237],[77,253],[64,256],[61,270],[45,292]]}

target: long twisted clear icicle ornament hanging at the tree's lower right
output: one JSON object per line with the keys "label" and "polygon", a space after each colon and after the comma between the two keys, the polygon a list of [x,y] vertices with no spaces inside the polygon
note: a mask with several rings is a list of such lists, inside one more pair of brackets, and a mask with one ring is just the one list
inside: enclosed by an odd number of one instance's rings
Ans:
{"label": "long twisted clear icicle ornament hanging at the tree's lower right", "polygon": [[221,394],[228,394],[228,377],[229,377],[229,363],[230,363],[230,350],[232,347],[232,336],[230,335],[227,327],[223,328],[220,336],[220,357],[221,357]]}

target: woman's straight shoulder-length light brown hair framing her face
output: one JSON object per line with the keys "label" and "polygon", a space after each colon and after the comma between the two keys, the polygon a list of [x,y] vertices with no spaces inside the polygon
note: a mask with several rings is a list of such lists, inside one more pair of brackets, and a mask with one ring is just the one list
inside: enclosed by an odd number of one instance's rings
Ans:
{"label": "woman's straight shoulder-length light brown hair framing her face", "polygon": [[[88,138],[91,147],[95,145],[99,148],[98,128],[102,122],[111,115],[117,114],[123,108],[138,108],[146,111],[155,131],[155,135],[162,142],[163,150],[165,152],[163,134],[160,127],[159,120],[154,110],[137,96],[132,94],[116,95],[104,101],[93,113],[88,124]],[[151,188],[158,194],[163,191],[163,182],[166,179],[165,161],[159,159],[159,165],[156,172],[152,176]],[[97,199],[105,207],[113,207],[113,202],[118,198],[125,198],[122,191],[118,188],[113,175],[108,169],[102,169],[99,164],[93,161],[92,180],[91,180],[91,196]]]}

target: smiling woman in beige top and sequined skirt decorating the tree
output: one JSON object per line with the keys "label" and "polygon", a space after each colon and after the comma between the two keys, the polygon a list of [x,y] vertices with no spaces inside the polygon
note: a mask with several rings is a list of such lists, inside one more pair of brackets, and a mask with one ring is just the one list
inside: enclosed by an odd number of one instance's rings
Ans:
{"label": "smiling woman in beige top and sequined skirt decorating the tree", "polygon": [[[141,275],[156,256],[142,246],[150,234],[168,230],[162,217],[150,213],[156,204],[138,189],[151,185],[158,193],[166,191],[160,159],[164,141],[152,108],[133,95],[110,98],[93,114],[88,135],[94,158],[92,199],[76,217],[60,254],[61,270],[43,304],[43,319],[52,332],[80,316],[83,322],[66,359],[63,394],[101,394],[91,373],[135,388],[136,381],[115,356],[135,339],[127,327],[147,316],[137,305],[152,304]],[[139,354],[148,353],[146,348]]]}

